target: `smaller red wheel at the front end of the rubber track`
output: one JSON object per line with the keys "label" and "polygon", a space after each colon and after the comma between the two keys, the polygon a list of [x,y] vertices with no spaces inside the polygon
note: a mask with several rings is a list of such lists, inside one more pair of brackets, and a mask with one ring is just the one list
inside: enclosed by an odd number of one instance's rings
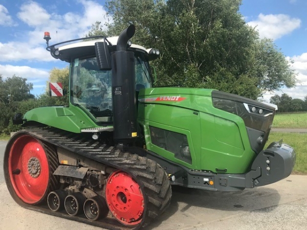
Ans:
{"label": "smaller red wheel at the front end of the rubber track", "polygon": [[125,225],[142,221],[144,196],[138,183],[122,171],[112,173],[105,188],[106,203],[113,216]]}

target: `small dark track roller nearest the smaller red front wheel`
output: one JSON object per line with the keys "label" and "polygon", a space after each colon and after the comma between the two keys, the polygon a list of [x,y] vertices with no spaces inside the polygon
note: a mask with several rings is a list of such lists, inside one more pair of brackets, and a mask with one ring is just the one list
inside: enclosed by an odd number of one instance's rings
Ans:
{"label": "small dark track roller nearest the smaller red front wheel", "polygon": [[85,200],[83,211],[87,219],[98,220],[105,218],[108,214],[108,208],[105,199],[100,196],[95,196]]}

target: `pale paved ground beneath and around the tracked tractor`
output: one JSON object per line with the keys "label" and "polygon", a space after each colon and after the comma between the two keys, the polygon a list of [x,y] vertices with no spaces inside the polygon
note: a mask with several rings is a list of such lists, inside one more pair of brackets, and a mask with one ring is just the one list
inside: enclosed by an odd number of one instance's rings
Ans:
{"label": "pale paved ground beneath and around the tracked tractor", "polygon": [[[5,141],[0,141],[0,229],[98,230],[76,221],[21,208],[3,176]],[[242,192],[211,192],[173,187],[167,211],[146,229],[260,230],[307,229],[307,176],[290,175],[272,185]]]}

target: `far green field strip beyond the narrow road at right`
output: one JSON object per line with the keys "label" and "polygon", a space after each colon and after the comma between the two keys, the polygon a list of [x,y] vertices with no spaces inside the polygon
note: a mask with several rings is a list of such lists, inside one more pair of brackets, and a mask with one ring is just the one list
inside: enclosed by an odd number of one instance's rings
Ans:
{"label": "far green field strip beyond the narrow road at right", "polygon": [[275,114],[273,128],[307,128],[307,113]]}

